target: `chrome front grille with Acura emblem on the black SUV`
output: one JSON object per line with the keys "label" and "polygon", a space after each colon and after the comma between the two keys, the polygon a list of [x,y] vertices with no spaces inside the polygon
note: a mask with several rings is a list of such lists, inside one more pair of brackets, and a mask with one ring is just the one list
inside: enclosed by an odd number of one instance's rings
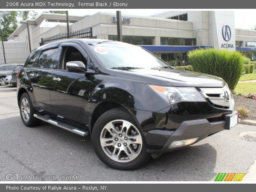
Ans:
{"label": "chrome front grille with Acura emblem on the black SUV", "polygon": [[222,88],[200,88],[200,92],[214,107],[230,109],[234,105],[234,99],[228,86]]}

